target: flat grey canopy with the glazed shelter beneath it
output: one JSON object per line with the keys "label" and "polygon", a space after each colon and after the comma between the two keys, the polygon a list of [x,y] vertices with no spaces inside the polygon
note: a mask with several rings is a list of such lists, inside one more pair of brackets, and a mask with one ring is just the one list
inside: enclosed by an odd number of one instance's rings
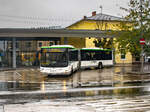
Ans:
{"label": "flat grey canopy with the glazed shelter beneath it", "polygon": [[39,66],[41,46],[67,44],[70,37],[99,37],[104,34],[105,31],[100,30],[3,28],[0,29],[0,68]]}

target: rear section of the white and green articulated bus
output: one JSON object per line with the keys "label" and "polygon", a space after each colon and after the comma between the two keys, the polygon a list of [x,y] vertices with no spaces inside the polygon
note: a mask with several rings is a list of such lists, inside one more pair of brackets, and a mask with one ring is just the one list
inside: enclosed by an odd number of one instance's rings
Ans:
{"label": "rear section of the white and green articulated bus", "polygon": [[104,66],[113,66],[113,51],[111,49],[101,48],[82,48],[81,68],[103,68]]}

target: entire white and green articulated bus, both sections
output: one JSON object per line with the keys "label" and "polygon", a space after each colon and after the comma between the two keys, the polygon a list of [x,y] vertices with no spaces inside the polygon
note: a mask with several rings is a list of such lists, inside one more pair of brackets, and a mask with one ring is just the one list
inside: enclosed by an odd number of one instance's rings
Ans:
{"label": "entire white and green articulated bus, both sections", "polygon": [[71,45],[41,47],[40,71],[52,75],[70,75],[79,68],[113,65],[113,52],[110,49],[82,48]]}

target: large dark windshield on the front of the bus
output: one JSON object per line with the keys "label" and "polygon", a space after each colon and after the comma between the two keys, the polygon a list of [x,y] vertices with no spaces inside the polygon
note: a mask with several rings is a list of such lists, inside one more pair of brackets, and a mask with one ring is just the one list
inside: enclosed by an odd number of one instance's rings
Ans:
{"label": "large dark windshield on the front of the bus", "polygon": [[65,50],[43,49],[41,51],[42,67],[66,67],[67,65],[67,52]]}

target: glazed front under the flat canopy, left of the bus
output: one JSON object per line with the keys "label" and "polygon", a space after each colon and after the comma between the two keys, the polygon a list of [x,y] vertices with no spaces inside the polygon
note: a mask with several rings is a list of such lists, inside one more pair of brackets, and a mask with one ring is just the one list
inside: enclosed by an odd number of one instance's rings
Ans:
{"label": "glazed front under the flat canopy, left of the bus", "polygon": [[[41,46],[60,44],[60,38],[16,39],[16,65],[28,67],[39,65]],[[13,42],[12,39],[0,41],[0,67],[12,67]]]}

